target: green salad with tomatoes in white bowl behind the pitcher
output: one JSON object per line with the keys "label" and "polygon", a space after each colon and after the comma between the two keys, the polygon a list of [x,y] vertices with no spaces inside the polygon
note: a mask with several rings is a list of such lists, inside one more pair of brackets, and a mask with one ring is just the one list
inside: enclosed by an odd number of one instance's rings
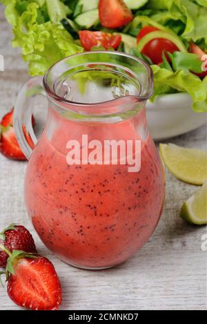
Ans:
{"label": "green salad with tomatoes in white bowl behind the pitcher", "polygon": [[[12,26],[12,45],[21,47],[30,75],[43,75],[56,61],[83,50],[119,50],[144,59],[152,68],[155,90],[147,111],[155,139],[206,122],[206,0],[0,2]],[[164,129],[171,123],[172,131],[153,134],[162,119]]]}

